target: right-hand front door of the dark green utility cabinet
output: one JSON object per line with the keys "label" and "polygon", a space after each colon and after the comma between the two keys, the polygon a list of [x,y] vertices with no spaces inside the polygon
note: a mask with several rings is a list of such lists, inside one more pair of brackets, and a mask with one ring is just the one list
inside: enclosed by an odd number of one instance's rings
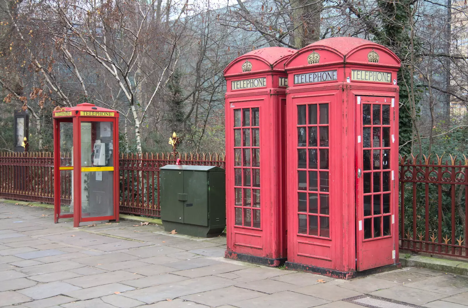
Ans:
{"label": "right-hand front door of the dark green utility cabinet", "polygon": [[[208,225],[208,173],[185,171],[183,178],[184,202],[183,222],[199,226]],[[162,211],[161,211],[162,212]]]}

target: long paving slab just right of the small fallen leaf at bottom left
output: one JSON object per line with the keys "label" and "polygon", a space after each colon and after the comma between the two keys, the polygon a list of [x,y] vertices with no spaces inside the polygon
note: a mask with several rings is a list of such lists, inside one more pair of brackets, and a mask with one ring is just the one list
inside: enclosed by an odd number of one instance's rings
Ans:
{"label": "long paving slab just right of the small fallen leaf at bottom left", "polygon": [[139,290],[125,292],[122,295],[150,304],[157,301],[164,301],[166,299],[174,299],[184,295],[220,289],[231,285],[233,285],[233,282],[229,279],[206,276],[155,287],[146,287]]}

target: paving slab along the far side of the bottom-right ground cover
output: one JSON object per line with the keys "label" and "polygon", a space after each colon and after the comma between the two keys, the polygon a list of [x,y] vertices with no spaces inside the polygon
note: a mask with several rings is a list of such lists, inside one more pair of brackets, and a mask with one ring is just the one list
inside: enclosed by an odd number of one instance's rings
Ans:
{"label": "paving slab along the far side of the bottom-right ground cover", "polygon": [[384,290],[372,292],[371,295],[385,297],[415,305],[424,305],[430,301],[436,301],[446,295],[414,289],[406,286],[396,286]]}

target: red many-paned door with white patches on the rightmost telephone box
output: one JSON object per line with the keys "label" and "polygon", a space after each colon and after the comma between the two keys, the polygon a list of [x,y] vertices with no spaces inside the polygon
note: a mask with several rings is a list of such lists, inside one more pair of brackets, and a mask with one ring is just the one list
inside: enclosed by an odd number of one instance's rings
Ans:
{"label": "red many-paned door with white patches on the rightmost telephone box", "polygon": [[395,263],[395,99],[356,97],[357,270]]}

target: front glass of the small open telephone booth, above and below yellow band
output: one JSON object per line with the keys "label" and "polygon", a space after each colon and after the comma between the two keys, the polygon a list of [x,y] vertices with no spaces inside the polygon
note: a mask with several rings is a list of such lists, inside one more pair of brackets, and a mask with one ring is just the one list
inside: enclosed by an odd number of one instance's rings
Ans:
{"label": "front glass of the small open telephone booth, above and below yellow band", "polygon": [[[81,122],[81,166],[113,165],[113,123]],[[81,173],[81,215],[114,215],[114,172]]]}

